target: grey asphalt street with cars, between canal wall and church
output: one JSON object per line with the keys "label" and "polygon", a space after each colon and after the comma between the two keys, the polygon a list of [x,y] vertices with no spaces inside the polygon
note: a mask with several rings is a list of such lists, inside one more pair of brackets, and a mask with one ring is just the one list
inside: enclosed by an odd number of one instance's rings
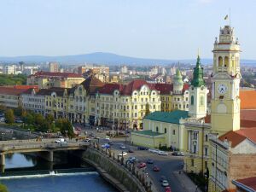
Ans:
{"label": "grey asphalt street with cars, between canal wall and church", "polygon": [[[82,131],[81,134],[84,135],[84,132],[87,131],[88,134],[93,132],[96,137],[100,137],[100,145],[108,143],[106,139],[106,130],[98,132],[96,131],[96,126],[89,129],[82,125],[74,125],[79,127]],[[174,172],[179,172],[183,170],[183,157],[172,156],[171,153],[168,153],[167,156],[162,156],[159,154],[152,154],[148,150],[138,150],[137,146],[132,146],[130,143],[130,137],[128,137],[125,142],[125,137],[111,137],[110,140],[113,142],[111,149],[115,151],[115,154],[121,154],[122,151],[127,152],[127,155],[124,156],[124,159],[127,160],[129,157],[135,157],[140,162],[146,162],[148,159],[154,161],[154,164],[147,164],[144,172],[148,172],[149,177],[154,181],[155,186],[160,192],[164,192],[165,188],[161,186],[160,177],[165,176],[169,182],[172,192],[184,192],[186,191],[183,188],[183,183],[180,183],[180,180],[177,179]],[[125,146],[125,149],[121,149],[120,146]],[[134,153],[128,153],[128,149],[131,148]],[[159,166],[160,172],[154,172],[153,167]]]}

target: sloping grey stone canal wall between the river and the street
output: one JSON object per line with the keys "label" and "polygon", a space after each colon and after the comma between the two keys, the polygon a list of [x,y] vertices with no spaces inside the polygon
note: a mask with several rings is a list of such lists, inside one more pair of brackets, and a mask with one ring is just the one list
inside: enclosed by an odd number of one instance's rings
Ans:
{"label": "sloping grey stone canal wall between the river and the street", "polygon": [[154,192],[151,188],[152,183],[147,183],[143,180],[142,175],[131,169],[130,171],[123,164],[123,161],[115,159],[111,151],[101,151],[97,148],[87,148],[86,151],[80,154],[82,160],[94,166],[103,178],[121,192]]}

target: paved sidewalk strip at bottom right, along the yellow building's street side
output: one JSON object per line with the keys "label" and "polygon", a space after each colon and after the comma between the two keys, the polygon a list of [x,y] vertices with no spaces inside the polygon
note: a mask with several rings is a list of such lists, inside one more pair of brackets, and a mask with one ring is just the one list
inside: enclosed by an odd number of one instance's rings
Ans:
{"label": "paved sidewalk strip at bottom right, along the yellow building's street side", "polygon": [[[174,177],[177,177],[178,182],[183,186],[184,192],[195,192],[196,185],[191,181],[191,179],[181,171],[181,174],[178,172],[172,172]],[[197,192],[201,192],[201,189],[197,189]]]}

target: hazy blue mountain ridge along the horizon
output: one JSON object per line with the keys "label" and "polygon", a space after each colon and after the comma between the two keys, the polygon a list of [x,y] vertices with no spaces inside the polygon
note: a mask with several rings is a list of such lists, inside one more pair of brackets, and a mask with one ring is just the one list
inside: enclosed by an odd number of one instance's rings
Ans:
{"label": "hazy blue mountain ridge along the horizon", "polygon": [[[84,55],[63,55],[63,56],[44,56],[44,55],[28,55],[28,56],[15,56],[15,57],[0,57],[0,62],[19,62],[24,61],[26,63],[32,62],[47,62],[56,61],[62,64],[78,64],[78,63],[96,63],[106,65],[168,65],[172,63],[195,63],[193,60],[161,60],[161,59],[147,59],[137,58],[124,55],[116,55],[112,53],[96,52]],[[212,59],[201,59],[203,64],[212,64]],[[241,61],[244,64],[255,64],[256,60],[244,60]]]}

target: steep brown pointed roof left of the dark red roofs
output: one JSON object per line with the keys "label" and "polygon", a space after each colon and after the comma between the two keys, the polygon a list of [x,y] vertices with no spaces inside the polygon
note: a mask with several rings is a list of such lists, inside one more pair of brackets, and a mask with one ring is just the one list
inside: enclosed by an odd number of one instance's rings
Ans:
{"label": "steep brown pointed roof left of the dark red roofs", "polygon": [[97,79],[94,75],[85,79],[81,84],[83,84],[84,89],[89,94],[95,94],[97,90],[99,90],[104,83],[100,79]]}

